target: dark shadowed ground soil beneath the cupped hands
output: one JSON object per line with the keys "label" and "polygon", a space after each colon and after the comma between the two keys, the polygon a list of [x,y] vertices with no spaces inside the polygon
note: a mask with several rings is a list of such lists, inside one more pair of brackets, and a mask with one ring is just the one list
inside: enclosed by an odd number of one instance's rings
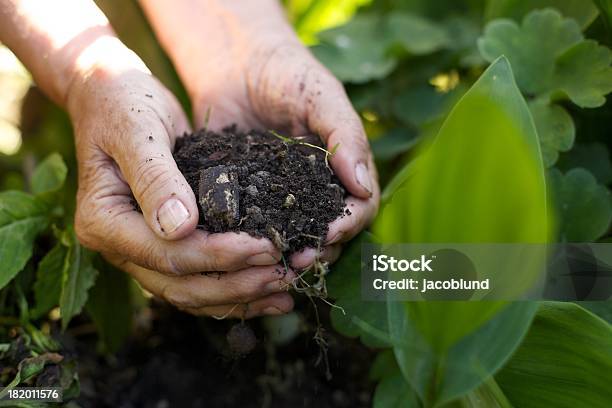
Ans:
{"label": "dark shadowed ground soil beneath the cupped hands", "polygon": [[[150,327],[112,358],[95,352],[93,333],[73,339],[81,379],[77,403],[83,408],[370,407],[372,351],[326,331],[329,378],[313,340],[314,310],[302,300],[297,305],[301,334],[276,345],[262,320],[251,320],[256,344],[243,357],[228,350],[226,334],[235,321],[196,318],[160,303],[150,310]],[[330,327],[327,306],[318,308],[323,325]]]}

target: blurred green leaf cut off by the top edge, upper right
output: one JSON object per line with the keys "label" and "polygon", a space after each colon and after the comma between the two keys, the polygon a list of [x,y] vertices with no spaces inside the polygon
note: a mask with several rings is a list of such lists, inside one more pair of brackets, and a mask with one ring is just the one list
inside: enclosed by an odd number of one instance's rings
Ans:
{"label": "blurred green leaf cut off by the top edge, upper right", "polygon": [[500,17],[520,21],[530,11],[546,7],[556,8],[582,28],[588,27],[597,17],[597,8],[590,0],[489,0],[485,16],[487,21]]}

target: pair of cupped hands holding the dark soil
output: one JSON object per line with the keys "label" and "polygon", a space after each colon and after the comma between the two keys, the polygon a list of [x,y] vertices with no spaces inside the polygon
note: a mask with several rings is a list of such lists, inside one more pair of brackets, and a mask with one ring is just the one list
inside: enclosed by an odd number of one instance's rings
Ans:
{"label": "pair of cupped hands holding the dark soil", "polygon": [[196,229],[196,198],[172,157],[176,138],[191,130],[185,113],[123,44],[113,38],[101,44],[122,62],[87,66],[67,98],[79,166],[79,240],[181,310],[238,318],[290,311],[287,287],[295,271],[316,257],[336,260],[341,244],[378,207],[372,155],[342,85],[293,38],[227,44],[204,64],[194,64],[193,50],[174,59],[195,128],[211,109],[212,130],[236,123],[244,130],[315,133],[329,148],[338,145],[330,165],[350,193],[351,214],[330,224],[322,248],[294,254],[280,279],[277,270],[285,267],[270,240]]}

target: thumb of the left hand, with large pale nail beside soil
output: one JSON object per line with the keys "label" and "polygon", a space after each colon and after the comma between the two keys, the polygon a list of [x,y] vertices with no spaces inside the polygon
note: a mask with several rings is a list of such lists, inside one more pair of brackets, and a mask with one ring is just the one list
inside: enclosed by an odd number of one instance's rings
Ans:
{"label": "thumb of the left hand, with large pale nail beside soil", "polygon": [[174,99],[172,106],[146,102],[129,108],[126,121],[131,125],[120,130],[120,137],[110,138],[108,154],[119,165],[149,227],[161,238],[180,239],[198,223],[195,196],[172,157],[174,137],[188,130],[187,120],[176,113]]}

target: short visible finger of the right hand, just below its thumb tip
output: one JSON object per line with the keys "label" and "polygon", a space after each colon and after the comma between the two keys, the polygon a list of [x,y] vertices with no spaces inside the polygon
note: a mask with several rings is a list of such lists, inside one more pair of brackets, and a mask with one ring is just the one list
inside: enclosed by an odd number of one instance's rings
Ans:
{"label": "short visible finger of the right hand, just below its thumb tip", "polygon": [[346,208],[350,213],[345,212],[342,217],[329,224],[326,245],[349,241],[368,226],[378,211],[378,193],[368,200],[348,197]]}

